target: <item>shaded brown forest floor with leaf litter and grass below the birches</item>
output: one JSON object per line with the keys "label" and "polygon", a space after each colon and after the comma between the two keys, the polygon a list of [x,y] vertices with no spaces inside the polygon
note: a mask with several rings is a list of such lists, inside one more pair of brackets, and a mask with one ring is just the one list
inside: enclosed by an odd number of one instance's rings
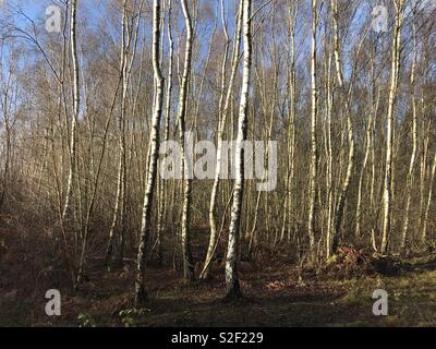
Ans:
{"label": "shaded brown forest floor with leaf litter and grass below the birches", "polygon": [[[8,255],[8,254],[7,254]],[[1,255],[0,255],[1,257]],[[4,253],[3,253],[4,260]],[[11,261],[9,261],[11,263]],[[295,266],[243,262],[244,298],[222,300],[223,268],[211,280],[184,285],[172,267],[149,267],[146,309],[131,309],[134,264],[107,272],[92,262],[78,291],[65,287],[56,261],[47,267],[15,256],[0,261],[0,326],[436,326],[436,255],[408,260],[395,277],[361,276],[338,280]],[[299,277],[302,276],[302,277]],[[62,315],[45,313],[47,289],[61,291]],[[389,294],[389,315],[375,316],[375,289]]]}

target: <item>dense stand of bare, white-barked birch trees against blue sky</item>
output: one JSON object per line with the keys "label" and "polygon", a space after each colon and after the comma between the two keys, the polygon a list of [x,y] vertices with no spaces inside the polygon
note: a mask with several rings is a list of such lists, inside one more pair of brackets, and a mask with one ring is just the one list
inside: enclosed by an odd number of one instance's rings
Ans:
{"label": "dense stand of bare, white-barked birch trees against blue sky", "polygon": [[[52,3],[59,31],[47,29]],[[432,245],[433,3],[4,3],[2,224],[43,237],[76,287],[90,256],[134,258],[137,303],[152,260],[190,282],[223,258],[234,298],[238,262],[259,248],[325,263],[343,244]],[[213,180],[190,177],[187,134],[216,144]],[[181,144],[180,179],[161,176],[165,141]],[[233,179],[220,177],[225,141],[235,142]],[[263,149],[277,156],[274,190],[245,178],[245,141],[277,141],[277,154]]]}

